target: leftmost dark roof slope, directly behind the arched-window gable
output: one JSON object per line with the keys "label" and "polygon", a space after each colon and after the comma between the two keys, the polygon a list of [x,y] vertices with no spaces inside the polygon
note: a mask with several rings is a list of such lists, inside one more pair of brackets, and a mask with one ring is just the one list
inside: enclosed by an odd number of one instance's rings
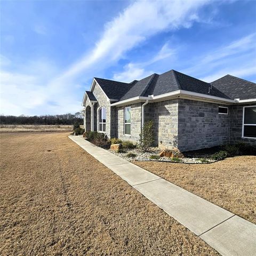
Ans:
{"label": "leftmost dark roof slope, directly behind the arched-window gable", "polygon": [[132,84],[94,77],[109,99],[119,100],[129,91]]}

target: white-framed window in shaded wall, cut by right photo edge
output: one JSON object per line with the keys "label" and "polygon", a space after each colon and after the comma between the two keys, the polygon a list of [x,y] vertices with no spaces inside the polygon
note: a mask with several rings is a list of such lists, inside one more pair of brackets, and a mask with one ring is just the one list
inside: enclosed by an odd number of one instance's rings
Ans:
{"label": "white-framed window in shaded wall, cut by right photo edge", "polygon": [[244,107],[242,137],[256,138],[256,106]]}

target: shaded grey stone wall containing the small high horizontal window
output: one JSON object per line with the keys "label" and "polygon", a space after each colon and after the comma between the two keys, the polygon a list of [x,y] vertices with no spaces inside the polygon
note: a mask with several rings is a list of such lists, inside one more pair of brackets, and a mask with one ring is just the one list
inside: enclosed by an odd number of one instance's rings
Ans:
{"label": "shaded grey stone wall containing the small high horizontal window", "polygon": [[[218,107],[228,114],[218,114]],[[179,99],[178,147],[181,151],[209,148],[229,143],[230,106]]]}

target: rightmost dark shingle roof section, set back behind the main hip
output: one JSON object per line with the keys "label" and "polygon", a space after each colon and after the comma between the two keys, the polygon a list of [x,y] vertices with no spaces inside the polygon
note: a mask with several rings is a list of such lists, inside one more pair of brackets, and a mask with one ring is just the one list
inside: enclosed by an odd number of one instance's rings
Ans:
{"label": "rightmost dark shingle roof section, set back behind the main hip", "polygon": [[212,85],[225,93],[230,99],[255,99],[256,84],[244,79],[226,75],[212,82]]}

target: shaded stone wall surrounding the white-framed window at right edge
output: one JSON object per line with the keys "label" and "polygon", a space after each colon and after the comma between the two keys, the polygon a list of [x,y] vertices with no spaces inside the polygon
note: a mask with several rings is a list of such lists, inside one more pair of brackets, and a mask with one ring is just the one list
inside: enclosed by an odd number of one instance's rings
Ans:
{"label": "shaded stone wall surrounding the white-framed window at right edge", "polygon": [[255,106],[255,103],[243,106],[235,105],[230,109],[230,144],[244,141],[256,145],[256,139],[242,138],[244,106]]}

